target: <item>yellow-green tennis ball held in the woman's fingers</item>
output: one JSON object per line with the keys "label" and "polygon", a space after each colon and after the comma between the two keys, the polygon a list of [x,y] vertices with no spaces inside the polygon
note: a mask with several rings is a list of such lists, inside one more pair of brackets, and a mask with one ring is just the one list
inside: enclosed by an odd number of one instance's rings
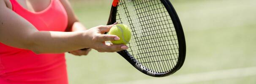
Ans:
{"label": "yellow-green tennis ball held in the woman's fingers", "polygon": [[116,35],[120,39],[111,41],[113,44],[124,44],[126,45],[131,39],[131,30],[124,24],[116,24],[111,27],[109,34]]}

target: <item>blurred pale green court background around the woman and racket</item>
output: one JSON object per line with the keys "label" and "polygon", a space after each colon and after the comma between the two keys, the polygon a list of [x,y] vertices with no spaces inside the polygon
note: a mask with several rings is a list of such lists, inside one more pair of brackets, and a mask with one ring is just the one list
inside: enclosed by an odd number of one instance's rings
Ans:
{"label": "blurred pale green court background around the woman and racket", "polygon": [[[112,0],[70,2],[79,20],[87,28],[106,25]],[[150,77],[137,71],[117,53],[98,53],[92,50],[89,55],[82,57],[66,53],[69,83],[144,84],[148,81],[153,84],[153,81],[158,81],[159,84],[176,84],[182,83],[177,80],[184,78],[186,81],[200,73],[240,68],[237,73],[227,74],[224,78],[221,76],[225,76],[226,72],[217,73],[221,79],[217,76],[216,79],[200,81],[204,77],[199,77],[197,81],[185,83],[256,84],[256,74],[243,70],[256,66],[256,0],[171,2],[180,17],[187,44],[185,63],[179,71],[163,78]],[[251,75],[243,76],[245,72]]]}

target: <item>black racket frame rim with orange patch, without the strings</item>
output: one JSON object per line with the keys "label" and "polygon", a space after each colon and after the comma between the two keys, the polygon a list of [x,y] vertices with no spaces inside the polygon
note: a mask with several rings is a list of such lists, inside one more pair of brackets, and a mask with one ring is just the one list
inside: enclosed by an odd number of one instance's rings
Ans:
{"label": "black racket frame rim with orange patch, without the strings", "polygon": [[[170,70],[168,72],[164,72],[164,73],[154,72],[154,71],[151,71],[150,69],[145,68],[144,66],[140,65],[139,62],[137,60],[135,60],[133,58],[133,56],[130,55],[130,53],[128,53],[127,50],[122,50],[122,51],[117,52],[118,54],[122,55],[123,58],[125,58],[125,60],[127,60],[129,63],[131,63],[131,65],[134,66],[136,69],[138,69],[139,71],[141,71],[144,74],[147,74],[149,76],[154,76],[154,77],[163,77],[163,76],[169,76],[171,74],[174,74],[176,71],[178,71],[182,67],[182,65],[185,61],[185,53],[186,53],[185,36],[184,36],[183,29],[182,29],[182,25],[180,23],[180,19],[177,16],[175,9],[169,0],[160,0],[160,1],[161,1],[161,3],[163,3],[163,5],[165,6],[166,10],[168,11],[170,17],[172,18],[172,22],[173,22],[174,28],[176,30],[177,39],[178,39],[178,43],[179,43],[179,57],[177,60],[177,64],[174,66],[174,68],[172,68],[172,70]],[[119,2],[119,0],[113,0],[107,25],[114,24],[116,22],[118,2]]]}

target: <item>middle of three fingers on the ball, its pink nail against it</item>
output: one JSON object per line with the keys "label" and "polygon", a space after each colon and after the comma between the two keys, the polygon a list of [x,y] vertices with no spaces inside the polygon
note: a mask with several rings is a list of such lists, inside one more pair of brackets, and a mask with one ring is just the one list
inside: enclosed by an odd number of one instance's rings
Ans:
{"label": "middle of three fingers on the ball, its pink nail against it", "polygon": [[104,42],[104,41],[120,40],[120,38],[117,37],[116,35],[100,34],[100,35],[98,36],[98,40]]}

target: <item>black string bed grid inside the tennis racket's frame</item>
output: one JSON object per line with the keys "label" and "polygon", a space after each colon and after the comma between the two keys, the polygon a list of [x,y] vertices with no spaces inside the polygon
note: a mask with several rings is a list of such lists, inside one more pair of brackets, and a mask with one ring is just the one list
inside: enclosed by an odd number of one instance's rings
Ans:
{"label": "black string bed grid inside the tennis racket's frame", "polygon": [[179,47],[168,12],[159,0],[125,1],[118,5],[117,22],[131,27],[128,52],[152,71],[170,71],[177,63]]}

